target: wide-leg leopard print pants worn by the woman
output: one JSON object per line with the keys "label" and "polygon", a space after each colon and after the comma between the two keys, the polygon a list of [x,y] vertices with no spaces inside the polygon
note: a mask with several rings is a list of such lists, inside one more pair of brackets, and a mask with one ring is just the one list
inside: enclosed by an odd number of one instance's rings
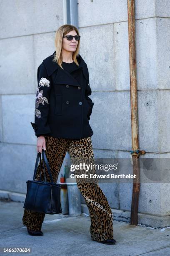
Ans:
{"label": "wide-leg leopard print pants worn by the woman", "polygon": [[[91,137],[79,140],[53,138],[44,136],[46,142],[46,151],[48,163],[54,182],[57,182],[58,174],[66,153],[70,159],[87,158],[94,159]],[[40,170],[42,170],[42,160],[37,167],[35,180],[40,179]],[[50,182],[50,177],[45,166],[46,180]],[[42,180],[44,179],[42,173]],[[77,182],[90,214],[90,234],[91,239],[95,241],[104,241],[113,238],[113,214],[107,198],[103,194],[97,182]],[[45,214],[24,209],[23,225],[30,230],[40,230]]]}

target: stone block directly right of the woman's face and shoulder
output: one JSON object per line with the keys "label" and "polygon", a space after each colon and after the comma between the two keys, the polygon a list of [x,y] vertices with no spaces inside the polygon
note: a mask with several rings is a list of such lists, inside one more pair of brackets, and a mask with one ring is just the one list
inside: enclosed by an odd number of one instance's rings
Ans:
{"label": "stone block directly right of the woman's face and shoulder", "polygon": [[114,91],[113,24],[80,28],[80,34],[80,55],[89,69],[90,87],[95,91]]}

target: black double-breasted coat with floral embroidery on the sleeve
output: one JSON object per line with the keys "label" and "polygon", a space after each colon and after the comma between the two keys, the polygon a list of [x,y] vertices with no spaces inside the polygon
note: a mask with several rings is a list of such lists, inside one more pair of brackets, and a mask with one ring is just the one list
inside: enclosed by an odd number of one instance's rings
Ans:
{"label": "black double-breasted coat with floral embroidery on the sleeve", "polygon": [[89,120],[94,102],[87,64],[80,54],[79,67],[71,73],[61,69],[52,59],[55,52],[42,61],[37,69],[35,135],[80,139],[92,136]]}

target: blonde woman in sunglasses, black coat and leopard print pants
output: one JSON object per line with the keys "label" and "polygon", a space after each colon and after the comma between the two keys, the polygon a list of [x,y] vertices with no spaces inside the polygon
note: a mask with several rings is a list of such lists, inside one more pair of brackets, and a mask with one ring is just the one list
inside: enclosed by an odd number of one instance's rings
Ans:
{"label": "blonde woman in sunglasses, black coat and leopard print pants", "polygon": [[[37,152],[45,150],[54,182],[66,152],[71,159],[94,159],[89,120],[94,102],[87,64],[78,54],[80,35],[75,26],[63,25],[55,34],[55,52],[37,69],[35,123]],[[42,162],[35,179],[40,179]],[[45,172],[47,169],[45,167]],[[43,179],[43,174],[42,174]],[[48,173],[46,179],[50,182]],[[112,210],[97,182],[82,183],[76,179],[90,212],[90,234],[93,241],[114,244]],[[32,236],[42,236],[45,214],[25,209],[23,225]]]}

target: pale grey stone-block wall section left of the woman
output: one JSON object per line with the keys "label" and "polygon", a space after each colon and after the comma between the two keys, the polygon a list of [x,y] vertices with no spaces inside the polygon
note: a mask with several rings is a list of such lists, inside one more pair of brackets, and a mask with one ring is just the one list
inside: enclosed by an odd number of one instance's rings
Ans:
{"label": "pale grey stone-block wall section left of the woman", "polygon": [[62,0],[0,0],[0,189],[26,193],[37,139],[34,122],[37,67],[55,51],[64,23]]}

